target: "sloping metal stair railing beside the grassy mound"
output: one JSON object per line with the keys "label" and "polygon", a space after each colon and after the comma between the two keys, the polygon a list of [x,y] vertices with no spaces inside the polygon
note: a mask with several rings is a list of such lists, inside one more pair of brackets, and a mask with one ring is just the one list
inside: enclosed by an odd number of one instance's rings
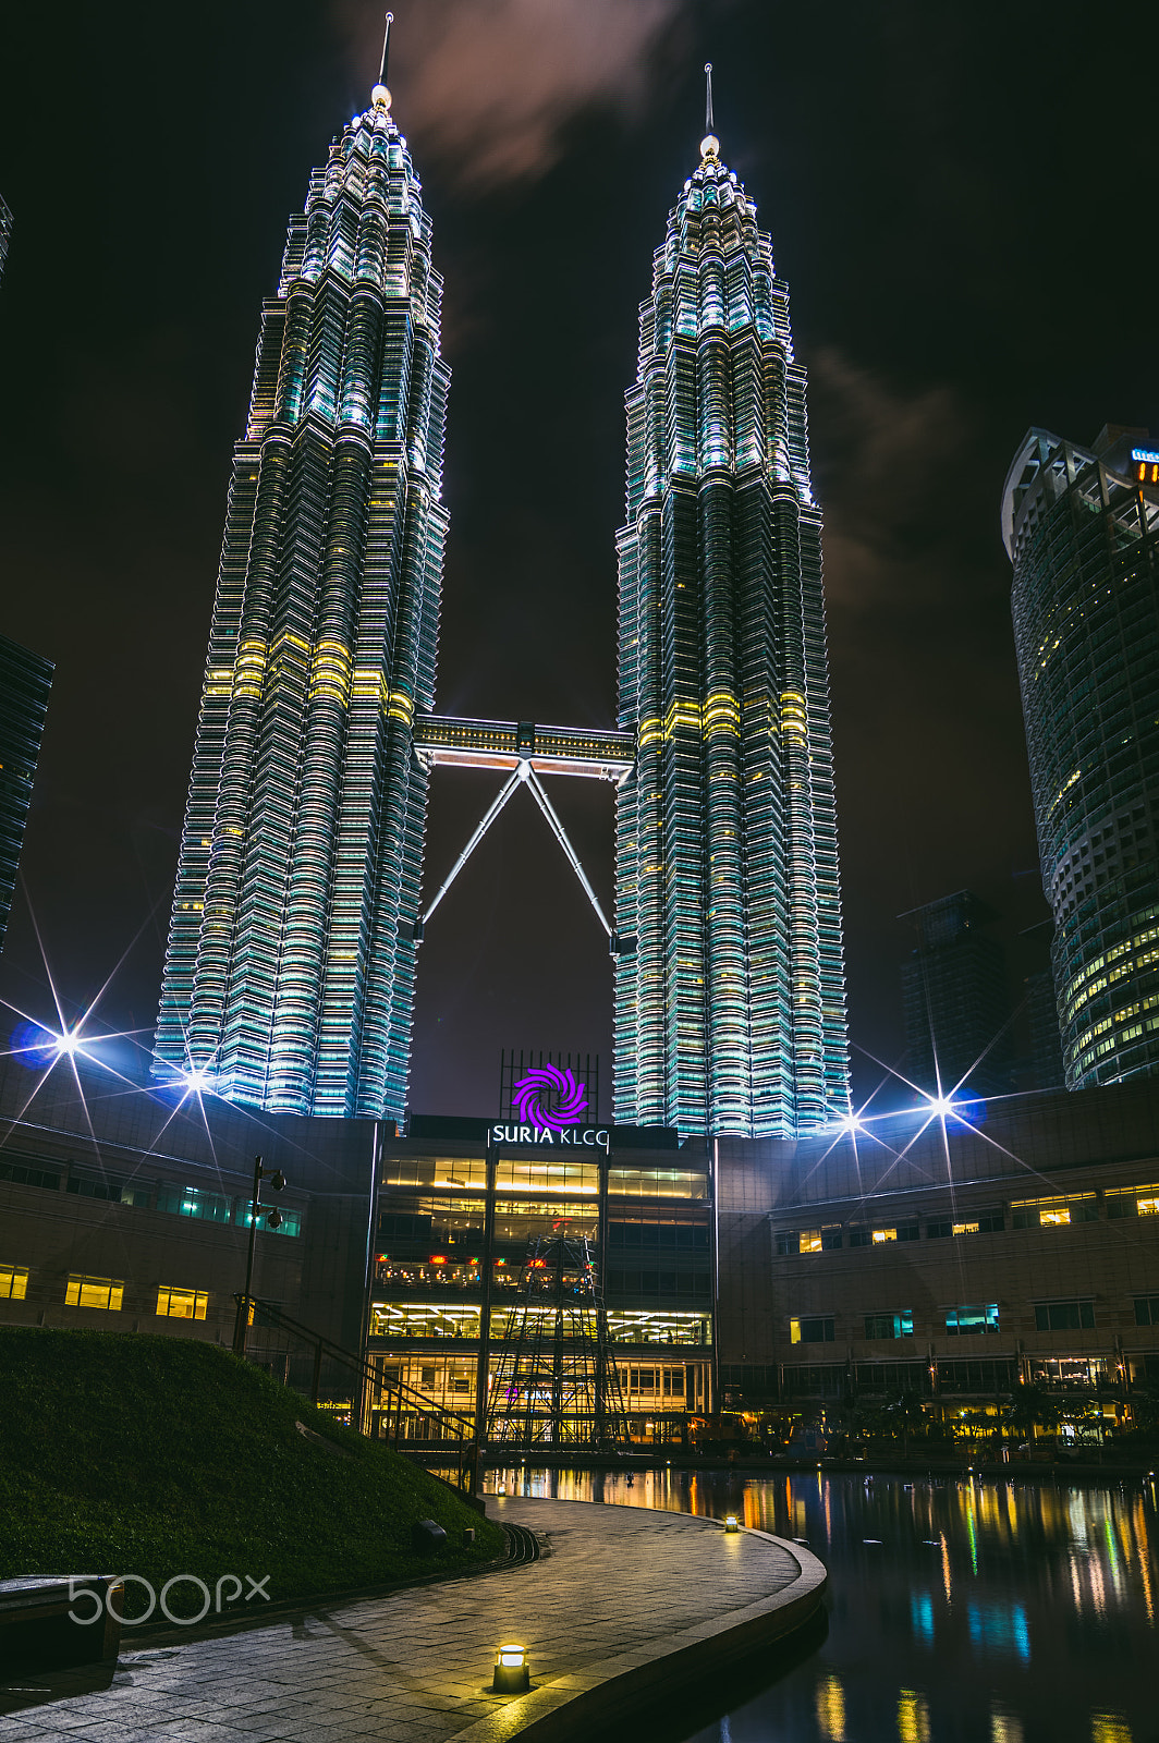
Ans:
{"label": "sloping metal stair railing beside the grassy mound", "polygon": [[[258,1300],[254,1295],[235,1295],[234,1299],[239,1314],[244,1316],[247,1325],[268,1325],[305,1344],[314,1353],[310,1403],[317,1405],[319,1400],[322,1361],[350,1370],[354,1379],[350,1428],[357,1429],[359,1434],[390,1440],[397,1450],[403,1438],[403,1424],[404,1421],[410,1424],[413,1417],[415,1424],[424,1424],[429,1429],[429,1433],[415,1438],[444,1445],[455,1459],[455,1487],[469,1495],[476,1494],[479,1459],[474,1415],[460,1415],[444,1405],[432,1405],[429,1398],[415,1391],[413,1386],[406,1386],[404,1380],[385,1379],[371,1358],[345,1349],[343,1344],[336,1344],[331,1337],[324,1337],[308,1325],[291,1319],[274,1302]],[[375,1407],[375,1394],[380,1398],[385,1396],[385,1408]]]}

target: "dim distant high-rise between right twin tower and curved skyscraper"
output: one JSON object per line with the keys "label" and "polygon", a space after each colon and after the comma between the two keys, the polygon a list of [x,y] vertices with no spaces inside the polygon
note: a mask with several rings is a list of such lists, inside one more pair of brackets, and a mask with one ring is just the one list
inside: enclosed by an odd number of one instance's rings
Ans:
{"label": "dim distant high-rise between right twin tower and curved skyscraper", "polygon": [[969,889],[910,913],[917,948],[901,967],[906,1077],[929,1095],[962,1086],[1007,1095],[1013,1039],[1006,953],[985,931],[997,913]]}

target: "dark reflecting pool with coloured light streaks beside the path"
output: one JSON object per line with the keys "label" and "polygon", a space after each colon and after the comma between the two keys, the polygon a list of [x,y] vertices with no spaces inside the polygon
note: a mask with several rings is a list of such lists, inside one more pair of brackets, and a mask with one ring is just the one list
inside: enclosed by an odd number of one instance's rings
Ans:
{"label": "dark reflecting pool with coloured light streaks beside the path", "polygon": [[1159,1743],[1154,1483],[533,1466],[488,1471],[500,1483],[741,1513],[826,1563],[826,1638],[681,1743]]}

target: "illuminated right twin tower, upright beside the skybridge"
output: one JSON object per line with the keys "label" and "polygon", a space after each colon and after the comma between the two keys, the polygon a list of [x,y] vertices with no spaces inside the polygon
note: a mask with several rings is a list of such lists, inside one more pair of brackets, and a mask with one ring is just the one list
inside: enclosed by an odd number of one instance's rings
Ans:
{"label": "illuminated right twin tower, upright beside the skybridge", "polygon": [[626,404],[615,1117],[793,1136],[849,1103],[821,511],[788,288],[711,132]]}

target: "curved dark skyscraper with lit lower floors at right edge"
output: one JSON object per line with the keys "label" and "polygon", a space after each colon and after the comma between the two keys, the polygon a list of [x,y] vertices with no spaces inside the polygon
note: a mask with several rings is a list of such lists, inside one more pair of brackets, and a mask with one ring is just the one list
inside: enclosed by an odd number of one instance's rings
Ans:
{"label": "curved dark skyscraper with lit lower floors at right edge", "polygon": [[1159,1070],[1159,448],[1032,429],[1002,497],[1067,1088]]}

